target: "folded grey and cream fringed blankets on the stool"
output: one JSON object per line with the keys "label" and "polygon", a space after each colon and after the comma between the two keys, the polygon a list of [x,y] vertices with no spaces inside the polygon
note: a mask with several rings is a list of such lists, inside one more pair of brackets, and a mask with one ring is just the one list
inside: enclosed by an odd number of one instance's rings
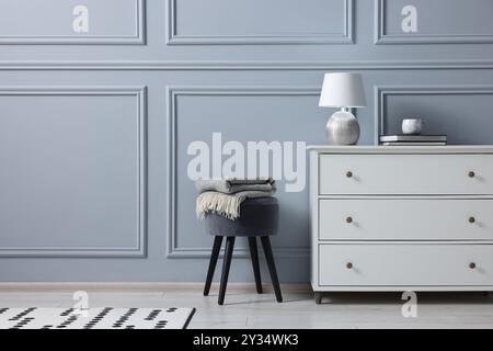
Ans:
{"label": "folded grey and cream fringed blankets on the stool", "polygon": [[245,199],[266,197],[276,192],[272,178],[198,180],[195,186],[200,193],[195,208],[199,219],[210,212],[234,220]]}

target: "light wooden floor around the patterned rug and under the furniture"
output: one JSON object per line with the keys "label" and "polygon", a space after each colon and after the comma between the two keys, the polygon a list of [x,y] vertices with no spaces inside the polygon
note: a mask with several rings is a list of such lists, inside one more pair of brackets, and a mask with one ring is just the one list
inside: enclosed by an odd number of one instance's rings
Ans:
{"label": "light wooden floor around the patterned rug and under the furniture", "polygon": [[[217,305],[217,286],[208,297],[199,285],[107,288],[96,284],[87,291],[92,307],[196,307],[188,328],[493,328],[492,294],[420,293],[417,317],[403,318],[400,294],[334,293],[316,305],[307,288],[286,290],[285,302],[278,304],[268,288],[257,295],[253,285],[232,286],[223,306]],[[0,285],[0,307],[70,307],[73,291]]]}

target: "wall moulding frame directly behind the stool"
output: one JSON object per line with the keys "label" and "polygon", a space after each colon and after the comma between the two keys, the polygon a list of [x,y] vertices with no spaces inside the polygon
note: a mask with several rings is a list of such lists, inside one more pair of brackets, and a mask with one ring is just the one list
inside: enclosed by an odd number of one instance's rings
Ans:
{"label": "wall moulding frame directly behind the stool", "polygon": [[[237,87],[237,86],[181,86],[167,87],[167,125],[168,125],[168,216],[167,216],[167,258],[170,259],[192,259],[208,258],[210,248],[180,248],[177,246],[176,230],[176,121],[177,110],[176,102],[180,95],[210,95],[210,97],[228,97],[228,95],[277,95],[277,97],[306,97],[318,95],[320,88],[316,87]],[[274,248],[276,257],[279,258],[308,258],[309,248]],[[249,257],[248,249],[236,249],[234,257]]]}

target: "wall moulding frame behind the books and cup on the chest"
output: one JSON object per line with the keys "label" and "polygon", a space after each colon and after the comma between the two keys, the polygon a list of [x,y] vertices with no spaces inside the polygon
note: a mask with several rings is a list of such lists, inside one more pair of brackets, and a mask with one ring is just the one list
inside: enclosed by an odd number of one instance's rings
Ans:
{"label": "wall moulding frame behind the books and cup on the chest", "polygon": [[386,129],[386,97],[389,95],[493,95],[493,86],[375,86],[375,145],[378,145],[379,135],[385,134]]}

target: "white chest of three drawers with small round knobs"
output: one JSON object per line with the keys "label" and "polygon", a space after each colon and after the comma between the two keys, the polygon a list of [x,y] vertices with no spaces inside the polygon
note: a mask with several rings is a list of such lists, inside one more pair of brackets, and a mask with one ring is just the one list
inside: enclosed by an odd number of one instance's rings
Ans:
{"label": "white chest of three drawers with small round knobs", "polygon": [[493,146],[313,146],[311,284],[493,291]]}

